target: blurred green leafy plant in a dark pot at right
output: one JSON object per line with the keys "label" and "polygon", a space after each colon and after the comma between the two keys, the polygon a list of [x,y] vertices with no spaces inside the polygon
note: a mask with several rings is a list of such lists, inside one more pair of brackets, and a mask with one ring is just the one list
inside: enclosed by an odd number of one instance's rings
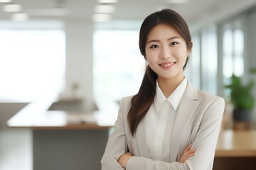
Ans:
{"label": "blurred green leafy plant in a dark pot at right", "polygon": [[[256,73],[256,69],[251,69],[251,73]],[[254,81],[242,84],[240,77],[233,75],[230,77],[230,84],[225,88],[230,89],[230,101],[233,103],[233,118],[235,121],[249,122],[252,117],[252,110],[255,106],[255,98],[252,89]]]}

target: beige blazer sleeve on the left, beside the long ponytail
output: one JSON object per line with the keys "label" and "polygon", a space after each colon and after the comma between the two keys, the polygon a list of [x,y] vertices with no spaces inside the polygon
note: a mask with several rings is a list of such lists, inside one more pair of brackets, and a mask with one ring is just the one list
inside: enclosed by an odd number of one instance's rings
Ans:
{"label": "beige blazer sleeve on the left, beside the long ponytail", "polygon": [[114,131],[110,135],[101,164],[102,170],[122,170],[123,167],[117,162],[119,157],[127,152],[127,140],[124,131],[124,99],[120,102],[117,120],[114,123]]}

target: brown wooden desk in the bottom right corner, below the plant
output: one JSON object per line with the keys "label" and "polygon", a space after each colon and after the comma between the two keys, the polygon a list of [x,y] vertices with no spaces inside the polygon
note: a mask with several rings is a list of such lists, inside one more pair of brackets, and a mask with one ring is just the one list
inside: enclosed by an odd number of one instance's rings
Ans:
{"label": "brown wooden desk in the bottom right corner, below the plant", "polygon": [[256,130],[221,131],[213,169],[256,169]]}

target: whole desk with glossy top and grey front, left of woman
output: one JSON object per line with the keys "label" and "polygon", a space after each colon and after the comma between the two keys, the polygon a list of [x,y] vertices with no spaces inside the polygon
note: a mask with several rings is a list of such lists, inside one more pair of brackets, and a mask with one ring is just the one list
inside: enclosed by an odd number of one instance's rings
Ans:
{"label": "whole desk with glossy top and grey front, left of woman", "polygon": [[7,122],[32,130],[33,170],[100,170],[117,111],[68,113],[47,111],[50,105],[41,104],[31,103]]}

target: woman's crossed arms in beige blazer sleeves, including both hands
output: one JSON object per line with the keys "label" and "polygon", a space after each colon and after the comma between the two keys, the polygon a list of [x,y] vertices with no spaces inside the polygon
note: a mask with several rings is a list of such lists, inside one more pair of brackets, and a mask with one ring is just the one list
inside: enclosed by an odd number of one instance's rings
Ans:
{"label": "woman's crossed arms in beige blazer sleeves, including both hands", "polygon": [[[201,126],[193,140],[193,147],[188,145],[184,149],[178,162],[154,161],[146,157],[134,156],[127,151],[127,139],[124,130],[124,115],[119,110],[117,122],[114,126],[105,154],[102,157],[102,170],[148,169],[148,170],[176,170],[176,169],[212,169],[215,145],[224,108],[224,101],[215,100],[201,120]],[[196,148],[196,152],[193,150]]]}

